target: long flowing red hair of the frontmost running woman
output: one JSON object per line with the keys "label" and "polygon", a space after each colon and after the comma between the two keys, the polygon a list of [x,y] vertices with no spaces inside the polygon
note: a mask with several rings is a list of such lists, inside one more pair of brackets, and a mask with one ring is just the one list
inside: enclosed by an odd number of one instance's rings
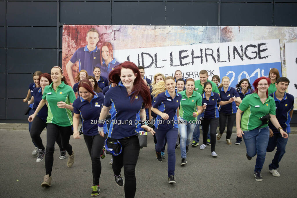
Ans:
{"label": "long flowing red hair of the frontmost running woman", "polygon": [[108,79],[111,83],[119,84],[121,81],[121,69],[132,69],[133,73],[136,74],[136,78],[133,83],[132,91],[132,99],[131,102],[135,99],[135,96],[140,95],[143,98],[143,103],[145,108],[149,108],[151,106],[151,94],[149,88],[144,83],[138,67],[130,61],[125,61],[124,63],[119,64],[116,66],[108,75]]}

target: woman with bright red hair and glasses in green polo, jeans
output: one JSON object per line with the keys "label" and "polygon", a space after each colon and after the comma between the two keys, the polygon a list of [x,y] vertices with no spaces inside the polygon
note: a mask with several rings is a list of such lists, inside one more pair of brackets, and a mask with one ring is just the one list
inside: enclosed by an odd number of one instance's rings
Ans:
{"label": "woman with bright red hair and glasses in green polo, jeans", "polygon": [[268,96],[269,85],[269,78],[257,78],[253,83],[255,92],[244,97],[236,112],[236,135],[244,139],[247,159],[251,160],[257,155],[254,170],[256,181],[263,180],[261,170],[269,140],[268,120],[270,119],[282,137],[288,137],[275,117],[275,102]]}

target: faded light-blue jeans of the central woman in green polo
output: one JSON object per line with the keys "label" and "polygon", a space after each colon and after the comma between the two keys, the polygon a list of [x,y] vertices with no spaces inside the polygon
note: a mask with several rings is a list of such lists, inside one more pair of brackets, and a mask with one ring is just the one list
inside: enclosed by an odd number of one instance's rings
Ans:
{"label": "faded light-blue jeans of the central woman in green polo", "polygon": [[190,124],[188,121],[185,121],[183,118],[180,118],[180,121],[187,122],[187,124],[178,124],[178,129],[181,133],[181,137],[180,137],[181,158],[187,158],[186,146],[188,146],[191,142],[196,123],[194,121],[194,124],[193,123]]}

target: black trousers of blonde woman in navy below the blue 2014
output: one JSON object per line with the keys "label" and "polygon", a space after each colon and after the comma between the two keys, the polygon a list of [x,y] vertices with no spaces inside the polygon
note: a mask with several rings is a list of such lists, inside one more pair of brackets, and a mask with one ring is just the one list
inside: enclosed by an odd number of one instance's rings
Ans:
{"label": "black trousers of blonde woman in navy below the blue 2014", "polygon": [[219,112],[219,132],[220,134],[223,134],[226,128],[226,120],[228,118],[228,123],[227,123],[227,135],[226,135],[226,139],[230,139],[231,135],[232,135],[232,128],[233,128],[233,124],[236,120],[236,113],[223,113],[223,112]]}

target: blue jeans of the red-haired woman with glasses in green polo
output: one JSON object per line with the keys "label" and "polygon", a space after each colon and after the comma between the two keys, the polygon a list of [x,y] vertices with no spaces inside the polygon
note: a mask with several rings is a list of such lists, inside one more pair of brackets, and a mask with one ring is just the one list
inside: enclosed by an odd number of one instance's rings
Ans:
{"label": "blue jeans of the red-haired woman with glasses in green polo", "polygon": [[269,140],[269,127],[256,128],[251,131],[244,131],[242,135],[245,146],[247,147],[247,154],[250,157],[257,155],[256,165],[254,171],[261,172],[266,156],[266,149]]}

